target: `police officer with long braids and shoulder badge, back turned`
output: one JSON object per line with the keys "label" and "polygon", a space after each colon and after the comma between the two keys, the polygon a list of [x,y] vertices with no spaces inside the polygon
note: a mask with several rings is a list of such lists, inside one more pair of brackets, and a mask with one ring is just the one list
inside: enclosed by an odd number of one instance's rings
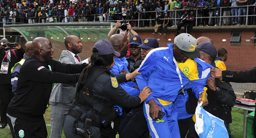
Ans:
{"label": "police officer with long braids and shoulder badge, back turned", "polygon": [[[99,40],[93,47],[91,66],[86,67],[79,79],[75,102],[64,122],[66,137],[109,137],[104,130],[111,128],[111,121],[119,111],[113,109],[115,103],[133,107],[142,103],[151,90],[143,88],[139,96],[131,96],[119,83],[134,78],[138,73],[114,75],[110,73],[115,62],[116,52],[107,40]],[[119,137],[119,134],[116,134]]]}

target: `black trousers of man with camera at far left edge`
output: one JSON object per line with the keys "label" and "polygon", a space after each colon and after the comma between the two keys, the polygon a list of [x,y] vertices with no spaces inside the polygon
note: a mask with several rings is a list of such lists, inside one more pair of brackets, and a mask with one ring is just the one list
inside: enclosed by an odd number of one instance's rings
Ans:
{"label": "black trousers of man with camera at far left edge", "polygon": [[11,99],[13,98],[11,83],[0,85],[0,90],[0,124],[2,124],[7,123],[6,111]]}

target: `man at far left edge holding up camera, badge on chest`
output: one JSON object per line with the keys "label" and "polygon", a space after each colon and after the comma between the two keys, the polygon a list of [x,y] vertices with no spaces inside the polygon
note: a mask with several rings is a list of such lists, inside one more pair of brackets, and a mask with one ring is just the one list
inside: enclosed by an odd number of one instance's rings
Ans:
{"label": "man at far left edge holding up camera, badge on chest", "polygon": [[5,73],[1,71],[0,73],[0,128],[5,128],[7,125],[6,110],[13,97],[10,79],[11,69],[15,63],[23,58],[23,54],[25,53],[24,49],[18,43],[16,43],[16,47],[9,47],[8,44],[9,41],[7,39],[3,38],[0,40],[0,64],[9,64],[7,71]]}

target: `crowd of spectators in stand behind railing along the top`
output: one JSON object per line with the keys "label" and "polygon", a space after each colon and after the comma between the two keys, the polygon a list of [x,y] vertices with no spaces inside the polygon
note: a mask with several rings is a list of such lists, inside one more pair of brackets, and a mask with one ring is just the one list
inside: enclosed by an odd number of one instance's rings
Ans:
{"label": "crowd of spectators in stand behind railing along the top", "polygon": [[[188,12],[187,17],[192,11],[196,15],[196,9],[197,17],[208,17],[198,18],[198,26],[245,25],[246,5],[255,5],[255,0],[1,0],[0,22],[4,23],[0,23],[0,27],[20,23],[122,20],[122,12],[127,12],[126,19],[131,20],[132,27],[150,27],[157,24],[157,17],[164,18],[166,13],[170,18],[181,18],[184,11]],[[254,7],[248,7],[248,15],[255,14]],[[244,17],[224,17],[220,24],[220,13]],[[254,25],[254,18],[248,16],[247,25]],[[136,19],[148,20],[138,22]],[[172,27],[180,22],[177,19],[175,24],[174,19],[169,20]]]}

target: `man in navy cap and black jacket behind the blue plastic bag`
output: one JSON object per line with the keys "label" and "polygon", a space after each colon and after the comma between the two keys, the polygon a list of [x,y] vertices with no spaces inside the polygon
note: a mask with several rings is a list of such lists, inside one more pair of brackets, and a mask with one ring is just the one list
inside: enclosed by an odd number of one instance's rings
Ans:
{"label": "man in navy cap and black jacket behind the blue plastic bag", "polygon": [[[212,43],[202,42],[196,48],[200,52],[201,60],[215,66],[214,59],[216,57],[217,50]],[[230,83],[224,82],[221,79],[209,77],[206,84],[209,88],[207,90],[209,104],[204,107],[204,110],[222,119],[227,128],[229,138],[232,138],[233,135],[230,134],[231,131],[229,123],[232,122],[231,107],[233,107],[236,102],[236,94],[234,93]],[[198,137],[195,133],[195,125],[190,124],[187,137]]]}

